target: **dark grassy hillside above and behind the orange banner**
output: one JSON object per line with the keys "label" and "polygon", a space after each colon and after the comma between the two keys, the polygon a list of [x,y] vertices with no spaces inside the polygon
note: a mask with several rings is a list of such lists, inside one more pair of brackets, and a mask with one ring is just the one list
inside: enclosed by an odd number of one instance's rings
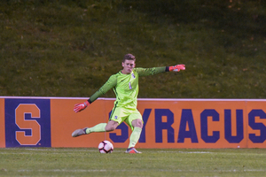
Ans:
{"label": "dark grassy hillside above and behind the orange banner", "polygon": [[0,96],[88,97],[133,53],[137,66],[186,65],[142,78],[139,97],[265,98],[265,10],[261,0],[4,0]]}

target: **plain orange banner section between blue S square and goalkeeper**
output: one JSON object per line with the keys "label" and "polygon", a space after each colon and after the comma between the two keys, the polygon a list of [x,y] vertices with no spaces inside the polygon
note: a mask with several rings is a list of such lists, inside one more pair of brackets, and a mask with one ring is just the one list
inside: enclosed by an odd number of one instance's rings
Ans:
{"label": "plain orange banner section between blue S square and goalkeeper", "polygon": [[83,112],[75,113],[74,104],[86,100],[51,100],[51,147],[98,147],[106,139],[105,133],[72,137],[75,129],[92,127],[100,122],[107,122],[102,101],[95,102]]}

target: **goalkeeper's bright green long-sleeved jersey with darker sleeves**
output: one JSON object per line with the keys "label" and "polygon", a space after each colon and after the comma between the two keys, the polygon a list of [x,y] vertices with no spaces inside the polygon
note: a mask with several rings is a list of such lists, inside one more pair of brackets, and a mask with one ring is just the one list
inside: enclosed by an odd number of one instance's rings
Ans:
{"label": "goalkeeper's bright green long-sleeved jersey with darker sleeves", "polygon": [[138,94],[138,77],[153,75],[155,73],[166,72],[166,67],[141,68],[137,67],[129,74],[115,73],[106,81],[106,83],[98,89],[98,91],[90,96],[90,103],[94,102],[99,96],[104,95],[109,89],[113,89],[116,95],[115,106],[122,106],[129,109],[137,108]]}

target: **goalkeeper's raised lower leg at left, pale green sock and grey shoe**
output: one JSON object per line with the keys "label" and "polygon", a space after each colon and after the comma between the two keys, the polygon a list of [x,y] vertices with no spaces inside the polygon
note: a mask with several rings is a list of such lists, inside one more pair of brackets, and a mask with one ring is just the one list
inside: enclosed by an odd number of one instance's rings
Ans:
{"label": "goalkeeper's raised lower leg at left, pale green sock and grey shoe", "polygon": [[100,123],[94,127],[84,127],[82,129],[76,129],[72,133],[73,137],[77,137],[80,135],[88,135],[92,132],[106,132],[106,123]]}

